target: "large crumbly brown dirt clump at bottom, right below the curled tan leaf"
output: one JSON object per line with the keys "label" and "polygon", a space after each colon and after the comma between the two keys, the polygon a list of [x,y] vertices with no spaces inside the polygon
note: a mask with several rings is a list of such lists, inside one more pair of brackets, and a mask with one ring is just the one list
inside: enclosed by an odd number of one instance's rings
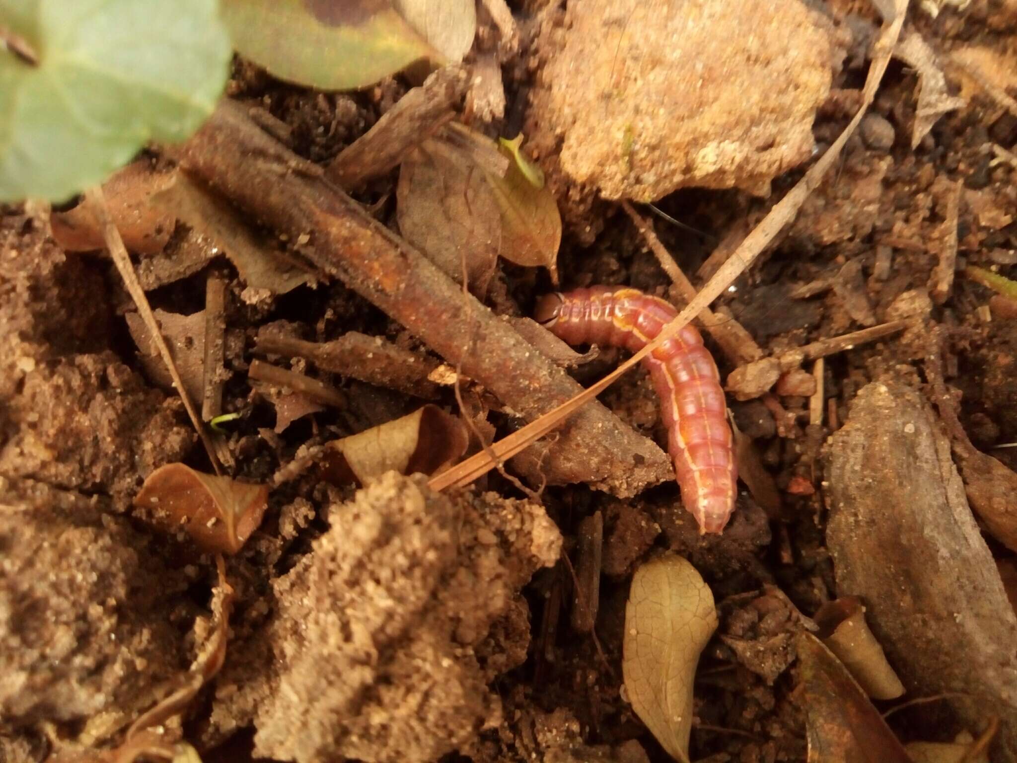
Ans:
{"label": "large crumbly brown dirt clump at bottom, right below the curled tan leaf", "polygon": [[255,754],[295,761],[435,760],[497,726],[488,684],[529,643],[519,591],[561,544],[543,509],[390,473],[330,512],[274,583],[265,661],[234,655],[257,672],[227,669],[213,722],[253,711]]}

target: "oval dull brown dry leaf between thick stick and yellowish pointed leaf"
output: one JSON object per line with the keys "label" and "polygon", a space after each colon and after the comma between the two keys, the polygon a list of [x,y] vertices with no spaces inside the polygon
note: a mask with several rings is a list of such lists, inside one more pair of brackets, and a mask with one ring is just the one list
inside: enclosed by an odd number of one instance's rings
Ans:
{"label": "oval dull brown dry leaf between thick stick and yellowish pointed leaf", "polygon": [[501,217],[487,176],[442,140],[425,140],[403,162],[397,188],[403,237],[483,299],[501,248]]}

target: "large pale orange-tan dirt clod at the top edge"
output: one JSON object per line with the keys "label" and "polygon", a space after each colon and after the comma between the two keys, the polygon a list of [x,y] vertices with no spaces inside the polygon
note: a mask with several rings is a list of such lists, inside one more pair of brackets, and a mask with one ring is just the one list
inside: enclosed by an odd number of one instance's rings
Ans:
{"label": "large pale orange-tan dirt clod at the top edge", "polygon": [[567,13],[534,102],[574,179],[607,198],[689,185],[765,194],[812,156],[833,54],[828,22],[804,3],[602,0]]}

